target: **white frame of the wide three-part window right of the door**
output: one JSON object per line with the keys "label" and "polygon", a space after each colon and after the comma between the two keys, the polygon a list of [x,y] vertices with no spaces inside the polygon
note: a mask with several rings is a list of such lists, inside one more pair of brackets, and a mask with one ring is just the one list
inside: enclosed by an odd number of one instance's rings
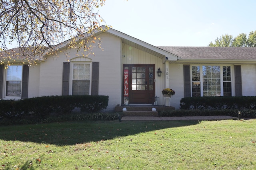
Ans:
{"label": "white frame of the wide three-part window right of the door", "polygon": [[203,66],[220,66],[220,96],[224,95],[223,92],[223,66],[230,66],[230,74],[231,74],[231,95],[234,96],[235,94],[235,78],[234,78],[234,65],[232,64],[191,64],[190,66],[190,92],[192,97],[192,66],[200,66],[200,94],[204,96],[203,92]]}

